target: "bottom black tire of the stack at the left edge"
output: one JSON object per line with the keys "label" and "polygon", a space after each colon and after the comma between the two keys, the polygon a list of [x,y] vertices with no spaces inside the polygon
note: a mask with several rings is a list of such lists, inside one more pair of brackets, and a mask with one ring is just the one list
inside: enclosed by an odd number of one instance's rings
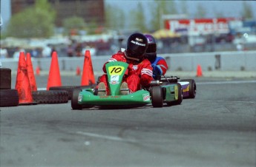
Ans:
{"label": "bottom black tire of the stack at the left edge", "polygon": [[16,89],[0,89],[0,106],[19,106],[19,94]]}

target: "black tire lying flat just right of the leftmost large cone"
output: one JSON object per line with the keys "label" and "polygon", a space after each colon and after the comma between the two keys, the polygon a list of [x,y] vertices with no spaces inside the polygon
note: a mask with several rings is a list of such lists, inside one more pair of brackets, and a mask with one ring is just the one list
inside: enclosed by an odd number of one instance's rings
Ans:
{"label": "black tire lying flat just right of the leftmost large cone", "polygon": [[37,103],[68,103],[68,92],[65,90],[42,90],[32,92]]}

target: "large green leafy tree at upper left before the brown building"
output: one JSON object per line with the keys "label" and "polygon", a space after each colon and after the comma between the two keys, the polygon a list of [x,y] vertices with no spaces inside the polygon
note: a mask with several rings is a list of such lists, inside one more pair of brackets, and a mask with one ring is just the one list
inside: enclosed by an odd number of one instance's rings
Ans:
{"label": "large green leafy tree at upper left before the brown building", "polygon": [[56,13],[47,0],[16,13],[10,19],[7,35],[18,38],[42,38],[53,35]]}

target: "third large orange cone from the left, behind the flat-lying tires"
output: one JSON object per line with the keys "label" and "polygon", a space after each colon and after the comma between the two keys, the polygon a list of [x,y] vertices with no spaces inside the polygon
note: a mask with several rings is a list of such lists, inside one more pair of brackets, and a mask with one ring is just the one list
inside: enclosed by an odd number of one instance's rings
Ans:
{"label": "third large orange cone from the left, behind the flat-lying tires", "polygon": [[51,86],[62,86],[57,52],[53,52],[52,54],[52,58],[50,62],[50,71],[49,71],[48,82],[47,82],[47,90],[49,90]]}

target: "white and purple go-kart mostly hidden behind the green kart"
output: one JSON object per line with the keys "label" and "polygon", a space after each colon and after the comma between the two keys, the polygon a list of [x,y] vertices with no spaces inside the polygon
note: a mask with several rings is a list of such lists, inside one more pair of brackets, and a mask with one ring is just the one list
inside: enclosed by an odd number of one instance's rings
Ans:
{"label": "white and purple go-kart mostly hidden behind the green kart", "polygon": [[161,76],[160,78],[157,78],[158,81],[162,83],[162,85],[168,84],[168,83],[180,83],[182,86],[182,94],[183,98],[195,98],[197,94],[197,85],[193,79],[183,79],[180,80],[180,77],[177,76],[171,76],[171,77],[165,77]]}

